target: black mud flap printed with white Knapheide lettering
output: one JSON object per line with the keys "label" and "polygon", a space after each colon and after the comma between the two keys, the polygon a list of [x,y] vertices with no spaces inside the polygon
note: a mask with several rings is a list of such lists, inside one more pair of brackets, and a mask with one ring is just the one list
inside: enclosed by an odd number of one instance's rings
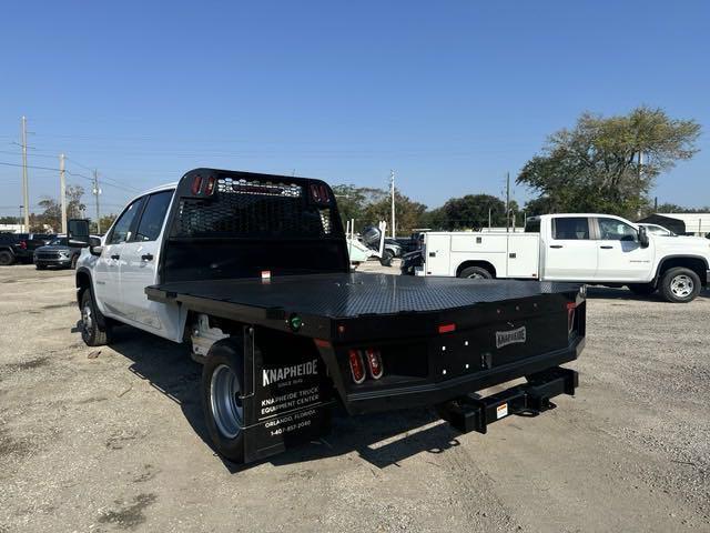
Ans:
{"label": "black mud flap printed with white Knapheide lettering", "polygon": [[[268,335],[264,330],[256,334]],[[331,428],[333,385],[316,350],[268,342],[245,329],[244,461],[253,462],[318,439]],[[261,340],[261,339],[260,339]],[[303,339],[302,339],[303,340]],[[304,340],[313,342],[311,340]],[[252,356],[248,356],[252,354]]]}

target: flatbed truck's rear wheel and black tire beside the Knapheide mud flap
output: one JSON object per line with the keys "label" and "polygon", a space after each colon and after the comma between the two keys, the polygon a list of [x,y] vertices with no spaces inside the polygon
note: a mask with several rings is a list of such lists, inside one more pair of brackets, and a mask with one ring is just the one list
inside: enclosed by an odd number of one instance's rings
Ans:
{"label": "flatbed truck's rear wheel and black tire beside the Knapheide mud flap", "polygon": [[[227,378],[234,380],[239,391],[233,391],[232,394],[220,394],[221,380]],[[215,342],[202,366],[202,412],[214,449],[220,455],[240,464],[244,462],[244,410],[237,394],[243,390],[244,352],[241,340],[230,338]],[[224,401],[221,402],[220,398]],[[241,420],[234,414],[235,408],[237,410],[242,408]]]}

